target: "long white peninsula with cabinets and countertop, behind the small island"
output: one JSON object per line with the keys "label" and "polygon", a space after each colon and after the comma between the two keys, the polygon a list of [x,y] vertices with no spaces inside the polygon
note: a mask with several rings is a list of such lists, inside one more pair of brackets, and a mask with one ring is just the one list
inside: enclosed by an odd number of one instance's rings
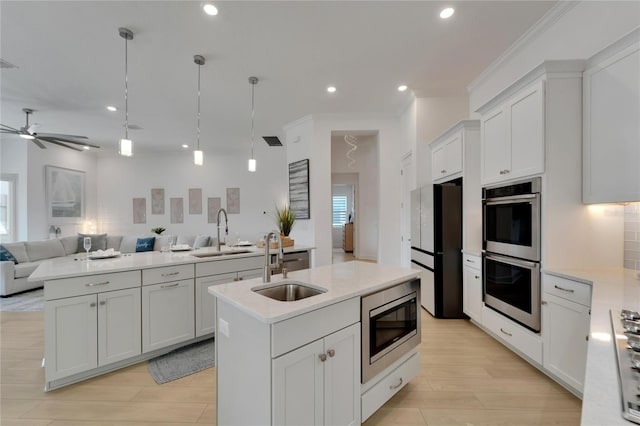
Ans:
{"label": "long white peninsula with cabinets and countertop, behind the small island", "polygon": [[[312,249],[284,251],[308,262]],[[207,247],[43,262],[29,279],[44,281],[45,390],[211,337],[215,299],[207,288],[262,276],[263,253]]]}

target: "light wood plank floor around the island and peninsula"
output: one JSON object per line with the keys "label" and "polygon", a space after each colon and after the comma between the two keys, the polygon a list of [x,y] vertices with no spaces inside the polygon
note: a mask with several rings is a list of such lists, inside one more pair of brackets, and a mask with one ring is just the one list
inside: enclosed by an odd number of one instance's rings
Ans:
{"label": "light wood plank floor around the island and peninsula", "polygon": [[[365,425],[580,423],[580,400],[474,325],[422,320],[419,377]],[[156,385],[141,363],[44,393],[42,329],[42,312],[0,312],[1,426],[215,424],[214,368]]]}

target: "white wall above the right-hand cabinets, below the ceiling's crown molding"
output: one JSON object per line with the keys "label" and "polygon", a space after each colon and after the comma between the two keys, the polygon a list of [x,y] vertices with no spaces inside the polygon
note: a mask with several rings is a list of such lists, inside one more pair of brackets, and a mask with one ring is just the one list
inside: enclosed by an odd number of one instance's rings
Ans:
{"label": "white wall above the right-hand cabinets, below the ceiling's crown molding", "polygon": [[543,61],[588,59],[640,25],[638,1],[581,1],[575,6],[559,2],[557,7],[565,13],[548,22],[544,32],[530,37],[469,85],[471,114]]}

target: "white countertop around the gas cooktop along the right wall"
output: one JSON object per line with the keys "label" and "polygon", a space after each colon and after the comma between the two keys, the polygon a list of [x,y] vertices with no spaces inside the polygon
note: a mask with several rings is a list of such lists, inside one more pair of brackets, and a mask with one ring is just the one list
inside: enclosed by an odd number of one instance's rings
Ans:
{"label": "white countertop around the gas cooktop along the right wall", "polygon": [[629,426],[622,400],[609,310],[640,311],[640,280],[631,269],[553,269],[544,272],[592,285],[591,328],[582,398],[583,426]]}

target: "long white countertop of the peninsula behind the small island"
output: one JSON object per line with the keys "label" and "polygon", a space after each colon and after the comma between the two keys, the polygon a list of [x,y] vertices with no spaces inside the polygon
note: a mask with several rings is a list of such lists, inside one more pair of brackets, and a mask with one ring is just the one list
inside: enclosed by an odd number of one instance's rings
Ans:
{"label": "long white countertop of the peninsula behind the small island", "polygon": [[[147,269],[188,263],[217,262],[242,257],[264,256],[264,248],[257,248],[256,246],[223,246],[220,251],[228,252],[243,249],[247,249],[249,250],[249,252],[202,258],[192,256],[193,254],[217,252],[215,247],[203,247],[190,251],[178,251],[169,253],[161,253],[158,251],[123,253],[118,257],[108,259],[92,259],[88,261],[86,260],[84,253],[77,253],[76,256],[58,257],[42,262],[38,266],[38,268],[29,276],[29,281],[44,281],[84,275],[129,271],[133,269]],[[309,251],[312,249],[313,247],[297,245],[292,247],[285,247],[284,252],[290,253],[295,251]],[[270,253],[277,253],[277,250],[270,249]]]}

